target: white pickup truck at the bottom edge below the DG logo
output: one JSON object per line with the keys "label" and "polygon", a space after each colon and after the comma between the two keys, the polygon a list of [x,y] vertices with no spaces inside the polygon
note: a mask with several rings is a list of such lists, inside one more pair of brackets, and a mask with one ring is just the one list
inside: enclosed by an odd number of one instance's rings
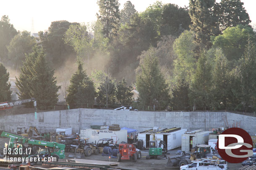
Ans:
{"label": "white pickup truck at the bottom edge below the DG logo", "polygon": [[190,165],[181,166],[180,170],[227,170],[227,162],[225,160],[203,158],[194,160]]}

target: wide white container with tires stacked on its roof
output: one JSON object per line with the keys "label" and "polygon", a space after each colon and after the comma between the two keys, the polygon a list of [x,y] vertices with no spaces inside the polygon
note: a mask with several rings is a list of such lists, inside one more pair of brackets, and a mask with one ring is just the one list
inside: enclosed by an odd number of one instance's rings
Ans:
{"label": "wide white container with tires stacked on its roof", "polygon": [[114,143],[120,144],[127,142],[127,130],[108,130],[108,129],[81,129],[80,137],[89,138],[88,142],[96,144],[103,138],[113,139]]}

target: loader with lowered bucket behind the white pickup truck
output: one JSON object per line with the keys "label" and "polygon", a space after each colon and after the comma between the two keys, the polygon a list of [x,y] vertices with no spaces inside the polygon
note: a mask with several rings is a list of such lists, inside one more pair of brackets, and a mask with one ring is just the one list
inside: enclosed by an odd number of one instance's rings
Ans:
{"label": "loader with lowered bucket behind the white pickup truck", "polygon": [[194,153],[177,152],[176,155],[168,157],[167,166],[180,167],[191,164],[191,161],[201,158],[208,158],[211,160],[219,160],[221,157],[217,154],[211,153],[210,145],[197,145]]}

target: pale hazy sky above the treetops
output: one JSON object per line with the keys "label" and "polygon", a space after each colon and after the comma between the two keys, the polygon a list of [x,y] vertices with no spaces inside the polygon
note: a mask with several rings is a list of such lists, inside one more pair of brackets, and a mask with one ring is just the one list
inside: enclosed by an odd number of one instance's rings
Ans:
{"label": "pale hazy sky above the treetops", "polygon": [[[119,0],[120,9],[127,0]],[[130,0],[138,12],[144,11],[156,0]],[[218,2],[219,0],[217,0]],[[241,0],[252,20],[256,23],[256,1]],[[189,0],[162,0],[162,3],[174,3],[180,7],[188,6]],[[97,20],[99,11],[97,0],[2,0],[0,16],[8,15],[10,23],[16,30],[32,30],[34,33],[47,30],[52,21],[68,20],[69,22],[90,23]]]}

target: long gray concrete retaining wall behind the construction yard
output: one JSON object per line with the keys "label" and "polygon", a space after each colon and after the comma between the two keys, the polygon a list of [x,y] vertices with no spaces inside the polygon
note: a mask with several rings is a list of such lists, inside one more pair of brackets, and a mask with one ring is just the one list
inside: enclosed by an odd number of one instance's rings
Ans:
{"label": "long gray concrete retaining wall behind the construction yard", "polygon": [[230,112],[145,112],[107,109],[71,109],[17,115],[0,115],[0,129],[16,132],[16,127],[36,126],[40,132],[54,132],[57,127],[72,127],[73,132],[90,128],[93,122],[120,124],[143,131],[152,127],[181,127],[189,130],[218,128],[240,124],[248,133],[256,134],[256,117]]}

